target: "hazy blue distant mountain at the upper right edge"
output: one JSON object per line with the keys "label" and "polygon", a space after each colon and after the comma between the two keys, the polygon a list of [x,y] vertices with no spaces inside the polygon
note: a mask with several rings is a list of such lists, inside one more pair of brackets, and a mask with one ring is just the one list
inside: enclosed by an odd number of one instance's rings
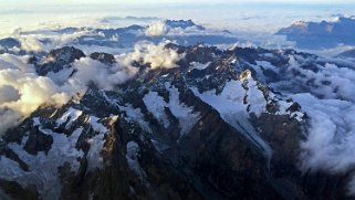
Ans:
{"label": "hazy blue distant mountain at the upper right edge", "polygon": [[276,34],[286,35],[289,41],[296,42],[297,48],[326,49],[340,44],[355,45],[354,32],[354,17],[337,17],[335,21],[299,21],[279,30]]}

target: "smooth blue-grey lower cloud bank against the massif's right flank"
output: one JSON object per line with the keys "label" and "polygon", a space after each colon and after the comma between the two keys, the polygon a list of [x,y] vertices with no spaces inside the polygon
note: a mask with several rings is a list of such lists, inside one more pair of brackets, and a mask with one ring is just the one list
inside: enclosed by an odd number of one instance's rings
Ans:
{"label": "smooth blue-grey lower cloud bank against the massif's right flank", "polygon": [[[307,137],[301,143],[301,168],[344,175],[355,166],[355,104],[341,99],[320,99],[309,93],[292,96],[310,116]],[[355,173],[347,192],[355,196]]]}

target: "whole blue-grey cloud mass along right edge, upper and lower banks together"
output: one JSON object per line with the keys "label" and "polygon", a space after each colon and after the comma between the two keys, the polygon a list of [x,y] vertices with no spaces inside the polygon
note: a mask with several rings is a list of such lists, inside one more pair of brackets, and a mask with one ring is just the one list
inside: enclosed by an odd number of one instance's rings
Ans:
{"label": "whole blue-grey cloud mass along right edge, upper and lower banks together", "polygon": [[[324,66],[316,65],[319,70],[312,71],[302,66],[307,60],[290,56],[290,72],[284,77],[288,81],[271,85],[283,93],[293,93],[290,97],[310,117],[306,139],[300,144],[301,169],[344,175],[355,166],[355,67],[354,64],[341,66],[336,63],[343,61],[335,59],[319,61],[325,62]],[[294,76],[292,71],[301,75]],[[355,194],[355,173],[352,176],[348,191]]]}

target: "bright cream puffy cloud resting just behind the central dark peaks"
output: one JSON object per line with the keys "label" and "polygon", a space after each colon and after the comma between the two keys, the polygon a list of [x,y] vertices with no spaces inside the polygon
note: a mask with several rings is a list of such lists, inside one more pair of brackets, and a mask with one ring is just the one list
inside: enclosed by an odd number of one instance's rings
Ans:
{"label": "bright cream puffy cloud resting just behind the central dark peaks", "polygon": [[160,42],[157,45],[152,42],[138,42],[134,48],[134,52],[126,56],[125,62],[143,61],[143,63],[149,64],[152,70],[177,67],[176,63],[185,55],[165,48],[168,42]]}

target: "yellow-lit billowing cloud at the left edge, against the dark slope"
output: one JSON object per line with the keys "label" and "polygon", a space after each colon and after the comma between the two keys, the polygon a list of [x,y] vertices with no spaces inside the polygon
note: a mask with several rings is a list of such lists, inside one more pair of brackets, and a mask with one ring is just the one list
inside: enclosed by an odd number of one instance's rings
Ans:
{"label": "yellow-lit billowing cloud at the left edge, against the dark slope", "polygon": [[20,123],[44,103],[64,104],[70,98],[51,78],[38,76],[32,70],[21,70],[25,63],[8,69],[4,69],[6,62],[0,63],[0,133]]}

